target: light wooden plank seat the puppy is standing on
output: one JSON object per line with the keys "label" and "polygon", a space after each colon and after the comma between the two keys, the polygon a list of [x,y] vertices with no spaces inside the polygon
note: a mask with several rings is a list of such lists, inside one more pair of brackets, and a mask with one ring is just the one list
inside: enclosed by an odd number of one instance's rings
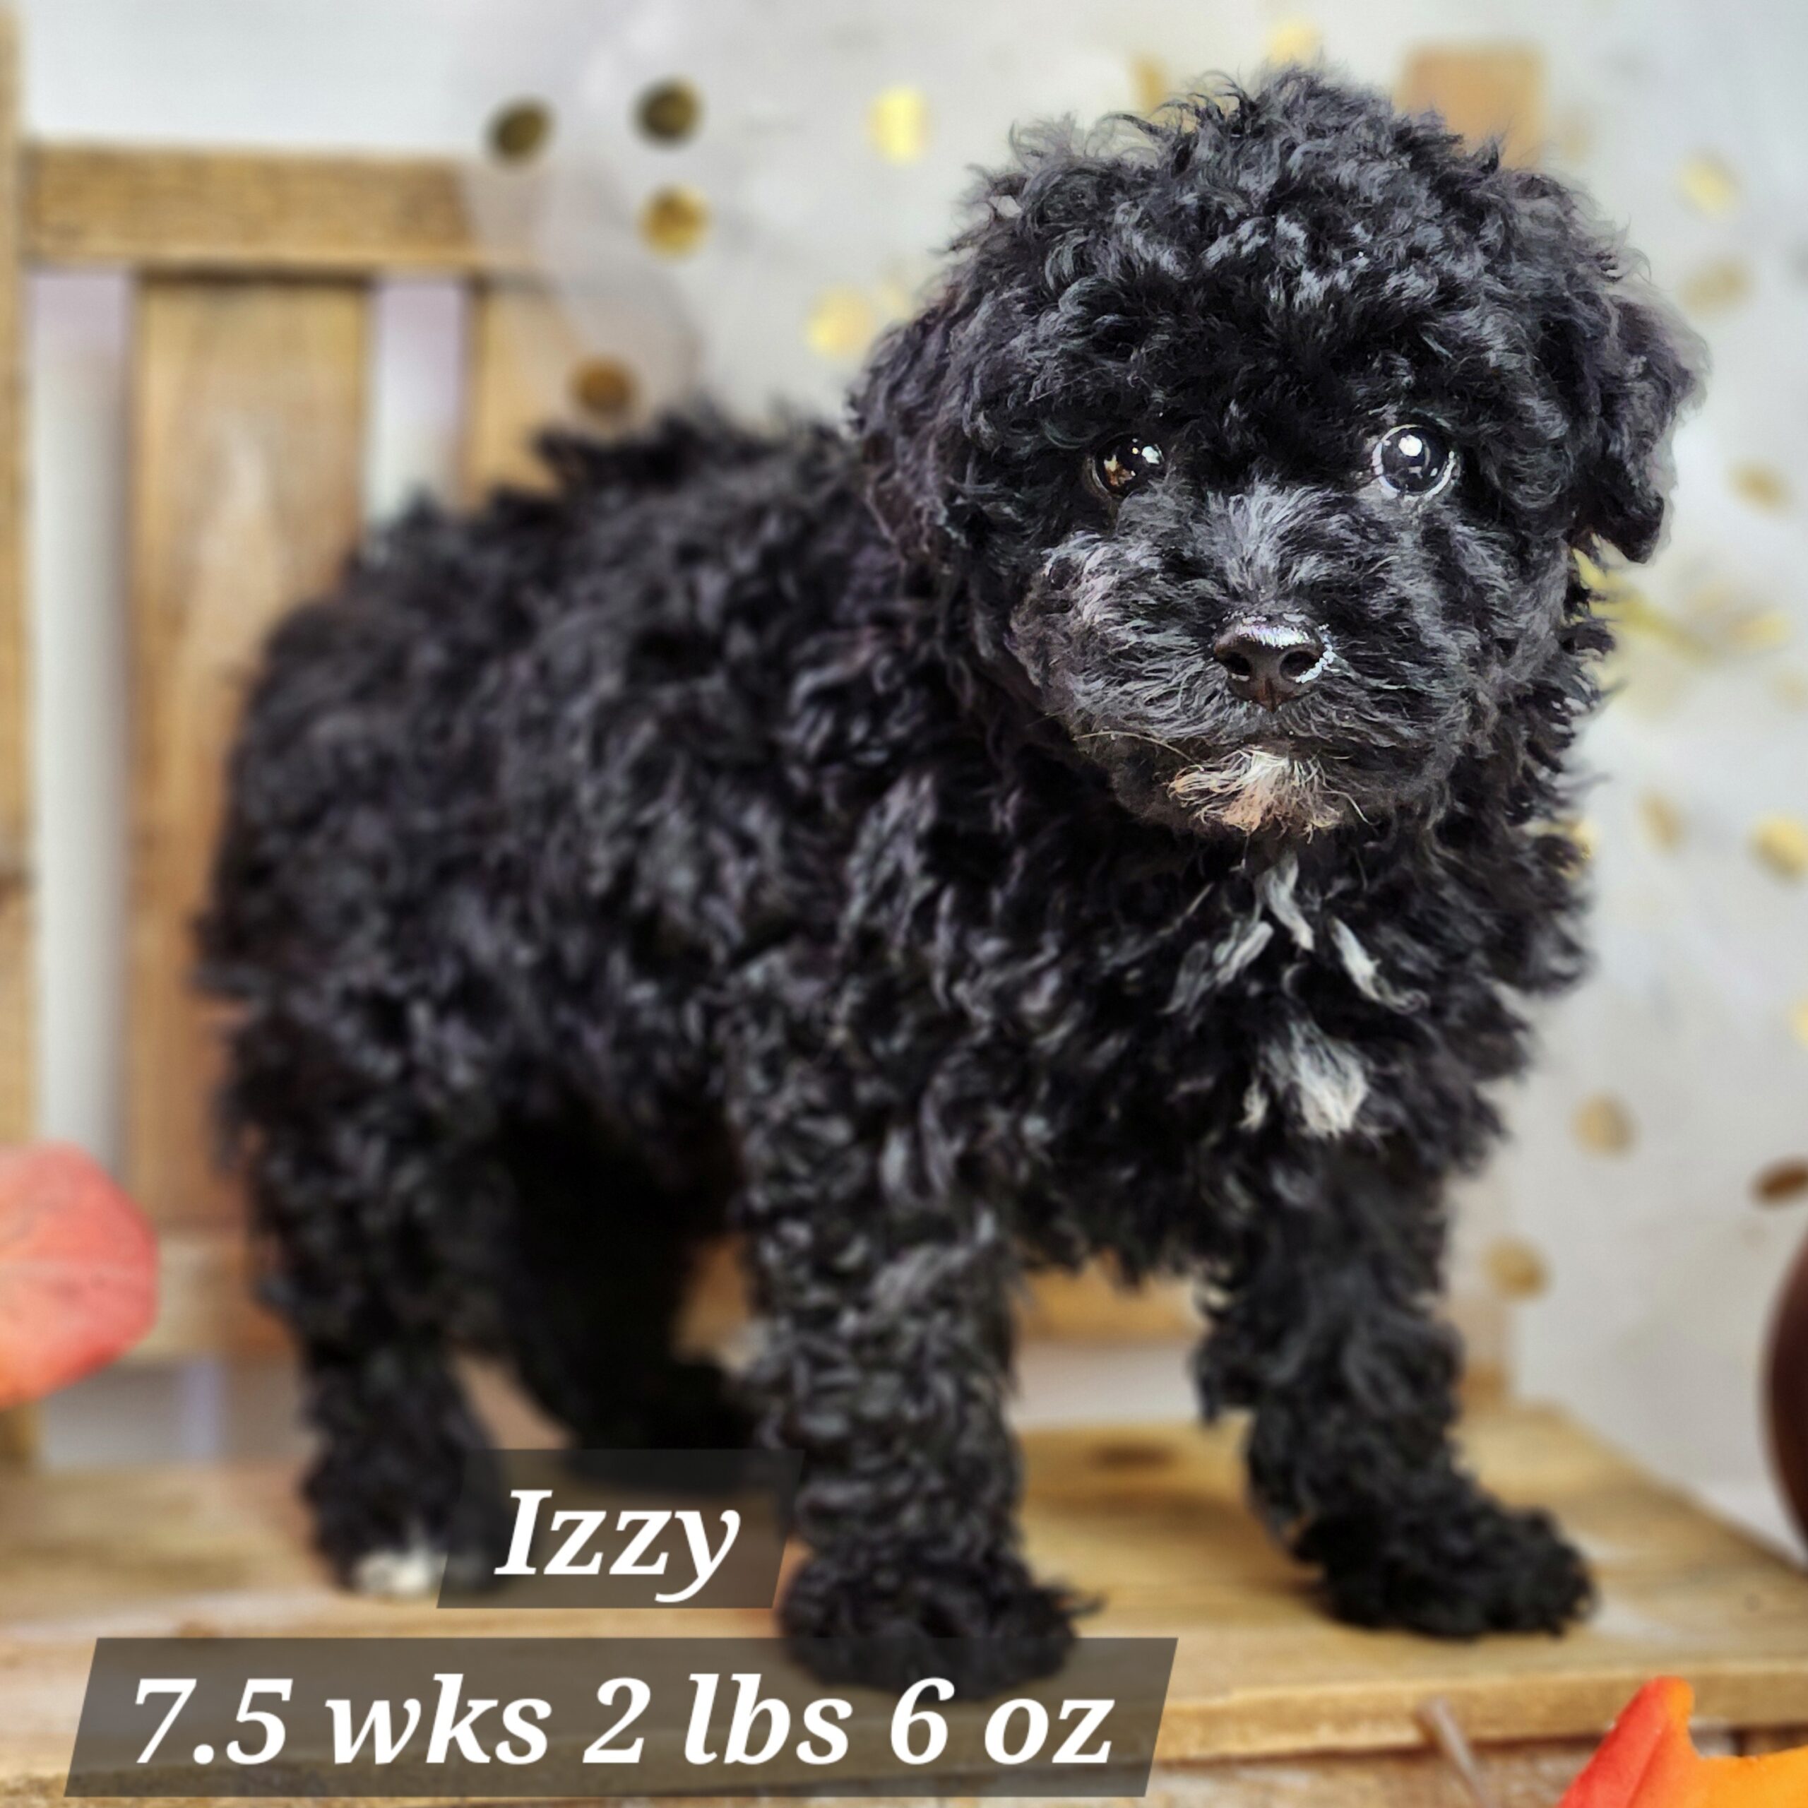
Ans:
{"label": "light wooden plank seat the puppy is standing on", "polygon": [[[1502,1759],[1522,1741],[1598,1737],[1658,1672],[1694,1683],[1709,1728],[1750,1736],[1808,1721],[1808,1577],[1553,1412],[1479,1414],[1468,1441],[1502,1493],[1553,1506],[1589,1549],[1602,1607],[1587,1627],[1448,1645],[1332,1624],[1246,1511],[1233,1428],[1031,1434],[1031,1555],[1045,1575],[1105,1596],[1088,1631],[1179,1634],[1163,1761],[1229,1765],[1220,1783],[1266,1777],[1275,1790],[1202,1799],[1329,1799],[1293,1797],[1280,1783],[1322,1775],[1307,1759],[1325,1754],[1421,1752],[1416,1710],[1430,1696]],[[551,1631],[523,1609],[459,1616],[457,1631],[479,1629]],[[0,1797],[54,1784],[98,1634],[445,1631],[432,1607],[327,1587],[282,1468],[0,1479]],[[770,1620],[579,1613],[559,1615],[557,1631],[761,1634]],[[1573,1768],[1580,1748],[1533,1768]],[[1436,1765],[1347,1774],[1392,1775],[1399,1792],[1352,1784],[1340,1804],[1461,1803]]]}

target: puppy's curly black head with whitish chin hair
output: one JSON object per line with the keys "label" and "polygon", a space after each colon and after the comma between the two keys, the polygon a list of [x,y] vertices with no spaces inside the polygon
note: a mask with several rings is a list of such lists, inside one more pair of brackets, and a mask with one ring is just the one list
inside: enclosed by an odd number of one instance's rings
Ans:
{"label": "puppy's curly black head with whitish chin hair", "polygon": [[855,418],[900,550],[1137,814],[1436,799],[1645,557],[1692,387],[1549,177],[1289,72],[991,177]]}

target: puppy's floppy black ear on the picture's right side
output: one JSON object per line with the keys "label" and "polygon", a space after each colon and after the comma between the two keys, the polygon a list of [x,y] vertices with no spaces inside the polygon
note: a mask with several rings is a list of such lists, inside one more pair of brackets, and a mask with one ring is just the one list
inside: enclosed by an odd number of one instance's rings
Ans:
{"label": "puppy's floppy black ear on the picture's right side", "polygon": [[1569,539],[1649,559],[1663,528],[1669,438],[1698,389],[1700,342],[1627,269],[1562,183],[1502,170],[1517,201],[1522,300],[1569,416]]}

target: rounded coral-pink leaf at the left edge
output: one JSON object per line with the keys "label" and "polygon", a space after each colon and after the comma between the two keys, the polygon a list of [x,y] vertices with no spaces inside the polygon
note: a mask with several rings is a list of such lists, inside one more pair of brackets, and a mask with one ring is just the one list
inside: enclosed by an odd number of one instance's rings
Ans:
{"label": "rounded coral-pink leaf at the left edge", "polygon": [[157,1314],[157,1244],[78,1148],[0,1150],[0,1407],[67,1387]]}

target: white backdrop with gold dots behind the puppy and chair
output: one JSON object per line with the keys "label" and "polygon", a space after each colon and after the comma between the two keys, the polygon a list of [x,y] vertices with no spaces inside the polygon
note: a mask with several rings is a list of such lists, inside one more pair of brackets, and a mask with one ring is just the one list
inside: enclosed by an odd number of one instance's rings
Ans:
{"label": "white backdrop with gold dots behind the puppy and chair", "polygon": [[[31,125],[58,137],[466,152],[499,105],[548,101],[542,237],[589,286],[580,324],[651,400],[700,376],[749,412],[837,407],[866,334],[933,268],[965,168],[1002,152],[1012,119],[1141,105],[1276,51],[1322,47],[1385,85],[1417,43],[1537,45],[1548,161],[1627,222],[1714,378],[1678,445],[1671,544],[1629,602],[1622,694],[1587,743],[1604,774],[1582,826],[1598,973],[1551,1014],[1540,1070],[1510,1099],[1517,1141],[1472,1242],[1511,1228],[1519,1278],[1548,1275],[1519,1307],[1524,1390],[1781,1530],[1757,1367],[1808,1191],[1765,1204],[1754,1182],[1808,1157],[1799,0],[25,0],[24,14]],[[702,128],[660,146],[635,99],[673,76],[702,96]],[[667,184],[707,204],[682,260],[635,230]],[[92,277],[43,280],[36,300],[43,1121],[114,1154],[125,302]],[[445,291],[392,293],[381,318],[374,508],[445,477],[457,381]]]}

